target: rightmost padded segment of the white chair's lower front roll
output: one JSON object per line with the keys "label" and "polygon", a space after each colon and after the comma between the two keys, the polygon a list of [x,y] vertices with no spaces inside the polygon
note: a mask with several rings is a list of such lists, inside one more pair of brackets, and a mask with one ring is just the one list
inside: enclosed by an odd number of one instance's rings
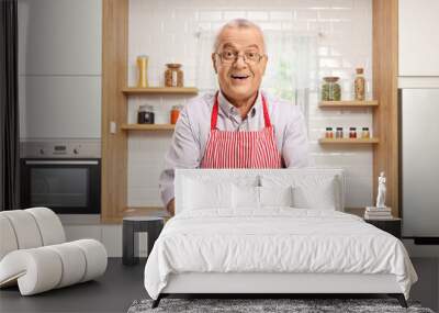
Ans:
{"label": "rightmost padded segment of the white chair's lower front roll", "polygon": [[80,239],[71,242],[70,244],[81,248],[86,256],[86,273],[81,282],[94,279],[105,272],[108,255],[105,247],[100,242],[94,239]]}

